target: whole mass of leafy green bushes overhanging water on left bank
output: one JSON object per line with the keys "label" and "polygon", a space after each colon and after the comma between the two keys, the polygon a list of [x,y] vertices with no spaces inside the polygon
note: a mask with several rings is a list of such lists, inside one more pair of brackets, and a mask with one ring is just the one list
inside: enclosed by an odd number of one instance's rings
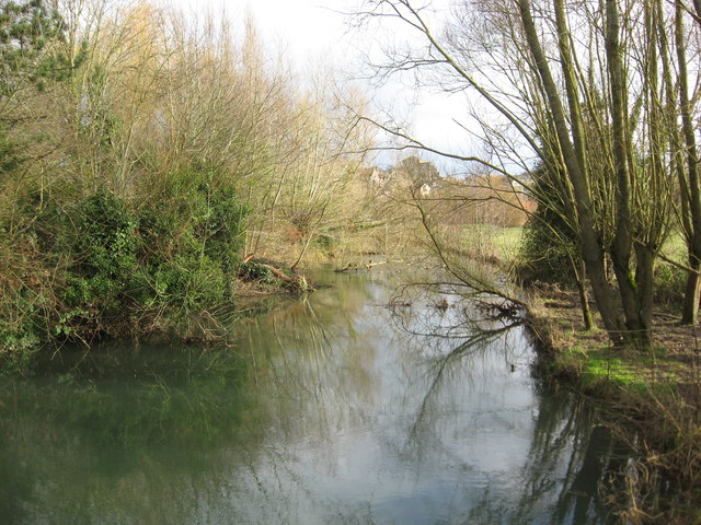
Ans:
{"label": "whole mass of leafy green bushes overhanging water on left bank", "polygon": [[41,343],[175,327],[232,299],[246,217],[232,183],[197,165],[151,175],[129,199],[25,185],[0,243],[5,369]]}

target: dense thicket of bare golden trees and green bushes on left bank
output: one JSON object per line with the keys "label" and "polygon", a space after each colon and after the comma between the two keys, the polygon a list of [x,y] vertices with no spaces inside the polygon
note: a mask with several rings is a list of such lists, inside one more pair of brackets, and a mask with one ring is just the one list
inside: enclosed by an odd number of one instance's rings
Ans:
{"label": "dense thicket of bare golden trees and green bushes on left bank", "polygon": [[[0,360],[172,330],[230,302],[244,254],[298,261],[360,217],[363,127],[251,21],[2,2]],[[342,198],[344,197],[344,198]]]}

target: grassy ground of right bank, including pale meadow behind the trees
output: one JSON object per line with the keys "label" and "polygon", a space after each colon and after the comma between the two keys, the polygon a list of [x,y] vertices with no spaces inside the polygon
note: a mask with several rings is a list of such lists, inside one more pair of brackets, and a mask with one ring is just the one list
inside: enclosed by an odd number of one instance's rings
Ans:
{"label": "grassy ground of right bank, including pale meadow behind the trees", "polygon": [[[567,248],[548,252],[541,240],[533,257],[533,237],[541,235],[532,222],[497,230],[490,249],[471,257],[519,284],[509,293],[520,293],[526,304],[538,351],[535,374],[587,398],[597,423],[631,451],[621,470],[602,480],[606,508],[616,523],[701,523],[701,340],[698,325],[681,323],[683,271],[674,260],[657,266],[653,345],[621,349],[595,307],[587,327],[579,291],[566,273]],[[681,259],[680,244],[673,235],[665,252]],[[595,303],[589,293],[586,302]]]}

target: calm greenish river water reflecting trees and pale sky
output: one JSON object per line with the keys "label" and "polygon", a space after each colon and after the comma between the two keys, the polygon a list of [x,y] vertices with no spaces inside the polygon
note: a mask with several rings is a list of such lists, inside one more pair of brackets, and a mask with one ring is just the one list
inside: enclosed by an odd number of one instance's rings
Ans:
{"label": "calm greenish river water reflecting trees and pale sky", "polygon": [[398,296],[389,265],[321,279],[226,348],[104,346],[0,380],[0,523],[605,523],[606,433],[531,376],[522,327]]}

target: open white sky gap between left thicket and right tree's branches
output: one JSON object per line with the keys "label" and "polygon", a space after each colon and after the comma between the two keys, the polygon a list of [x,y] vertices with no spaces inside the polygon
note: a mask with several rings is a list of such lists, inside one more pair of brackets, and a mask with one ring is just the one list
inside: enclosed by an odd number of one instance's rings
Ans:
{"label": "open white sky gap between left thicket and right tree's branches", "polygon": [[[272,49],[283,49],[284,56],[300,71],[308,69],[310,63],[324,61],[345,69],[354,77],[361,77],[363,54],[377,50],[386,36],[378,32],[349,30],[348,18],[344,13],[357,5],[358,0],[165,0],[165,3],[186,12],[223,11],[234,24],[250,12],[263,40]],[[368,92],[376,109],[392,106],[393,112],[412,122],[413,131],[423,142],[464,153],[460,141],[469,138],[452,121],[458,113],[455,100],[445,94],[422,93],[416,96],[399,82],[390,82],[380,89],[370,81],[357,82]],[[378,163],[388,165],[395,162],[395,158],[397,154],[387,153],[379,156]],[[444,173],[459,170],[456,164],[439,158],[430,160]]]}

